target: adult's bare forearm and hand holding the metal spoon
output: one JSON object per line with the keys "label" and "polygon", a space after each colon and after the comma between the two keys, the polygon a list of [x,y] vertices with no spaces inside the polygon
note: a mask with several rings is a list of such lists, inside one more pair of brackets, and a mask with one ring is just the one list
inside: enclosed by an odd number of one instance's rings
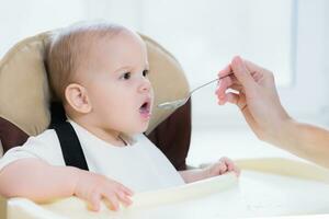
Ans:
{"label": "adult's bare forearm and hand holding the metal spoon", "polygon": [[216,90],[220,105],[238,105],[261,140],[329,169],[329,130],[290,118],[280,103],[272,72],[235,57],[219,72],[220,78],[227,74]]}

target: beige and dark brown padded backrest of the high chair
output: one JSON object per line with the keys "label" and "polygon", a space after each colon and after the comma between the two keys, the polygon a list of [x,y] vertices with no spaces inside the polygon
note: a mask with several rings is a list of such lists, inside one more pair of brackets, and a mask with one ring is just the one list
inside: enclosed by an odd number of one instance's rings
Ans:
{"label": "beige and dark brown padded backrest of the high chair", "polygon": [[[0,60],[0,141],[3,152],[23,145],[50,124],[52,92],[44,65],[53,32],[18,43]],[[185,169],[191,136],[191,102],[173,112],[157,105],[185,96],[189,84],[175,58],[140,34],[147,45],[149,79],[155,90],[152,117],[146,135],[173,165]]]}

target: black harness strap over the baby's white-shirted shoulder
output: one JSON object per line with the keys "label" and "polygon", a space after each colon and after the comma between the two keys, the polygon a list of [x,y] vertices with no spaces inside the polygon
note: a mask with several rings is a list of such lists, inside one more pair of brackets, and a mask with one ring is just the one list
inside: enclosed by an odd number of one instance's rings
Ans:
{"label": "black harness strap over the baby's white-shirted shoulder", "polygon": [[81,143],[72,125],[64,122],[55,125],[54,129],[58,136],[66,165],[89,171]]}

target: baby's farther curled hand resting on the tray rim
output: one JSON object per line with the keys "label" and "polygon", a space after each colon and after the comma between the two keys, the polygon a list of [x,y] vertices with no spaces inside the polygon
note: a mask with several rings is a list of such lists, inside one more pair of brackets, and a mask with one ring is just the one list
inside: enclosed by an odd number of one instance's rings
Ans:
{"label": "baby's farther curled hand resting on the tray rim", "polygon": [[208,165],[204,169],[207,177],[213,177],[216,175],[223,175],[227,172],[235,172],[237,176],[240,175],[239,168],[228,158],[220,158],[219,161]]}

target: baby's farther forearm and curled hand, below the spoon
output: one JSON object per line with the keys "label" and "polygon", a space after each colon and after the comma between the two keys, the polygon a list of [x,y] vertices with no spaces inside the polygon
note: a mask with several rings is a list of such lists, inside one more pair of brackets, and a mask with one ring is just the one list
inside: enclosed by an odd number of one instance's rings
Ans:
{"label": "baby's farther forearm and curled hand, below the spoon", "polygon": [[192,183],[216,175],[222,175],[227,172],[235,172],[238,176],[240,174],[240,170],[231,160],[229,160],[228,158],[220,158],[219,161],[204,169],[180,171],[180,174],[185,183]]}

